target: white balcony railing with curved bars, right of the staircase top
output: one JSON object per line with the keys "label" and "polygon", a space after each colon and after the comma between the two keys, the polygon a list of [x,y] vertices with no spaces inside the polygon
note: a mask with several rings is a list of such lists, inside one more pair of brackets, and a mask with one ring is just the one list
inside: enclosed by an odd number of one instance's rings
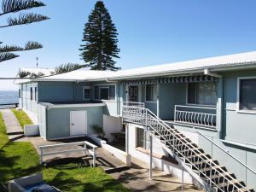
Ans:
{"label": "white balcony railing with curved bars, right of the staircase top", "polygon": [[217,108],[175,105],[174,122],[216,129]]}

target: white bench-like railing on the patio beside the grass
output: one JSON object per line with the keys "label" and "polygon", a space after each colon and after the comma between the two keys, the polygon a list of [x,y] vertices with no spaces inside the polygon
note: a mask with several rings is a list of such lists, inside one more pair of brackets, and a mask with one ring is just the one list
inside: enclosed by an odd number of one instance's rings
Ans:
{"label": "white bench-like railing on the patio beside the grass", "polygon": [[[73,149],[67,149],[67,147],[75,147]],[[84,155],[86,152],[92,155],[92,165],[96,166],[96,148],[97,146],[89,143],[89,142],[76,142],[76,143],[61,143],[61,144],[54,144],[54,145],[41,145],[40,148],[40,162],[41,164],[44,164],[44,157],[54,154],[70,154],[70,153],[77,153],[82,152]],[[55,148],[55,151],[52,152],[45,152],[44,150]]]}

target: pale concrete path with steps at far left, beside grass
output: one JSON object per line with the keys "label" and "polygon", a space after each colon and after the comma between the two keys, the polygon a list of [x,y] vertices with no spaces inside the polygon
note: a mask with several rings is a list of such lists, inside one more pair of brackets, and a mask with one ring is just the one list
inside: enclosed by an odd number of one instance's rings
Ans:
{"label": "pale concrete path with steps at far left, beside grass", "polygon": [[6,126],[6,132],[9,136],[9,140],[11,141],[24,141],[24,135],[18,119],[15,117],[15,113],[13,113],[10,109],[1,109],[0,112],[3,116],[3,121]]}

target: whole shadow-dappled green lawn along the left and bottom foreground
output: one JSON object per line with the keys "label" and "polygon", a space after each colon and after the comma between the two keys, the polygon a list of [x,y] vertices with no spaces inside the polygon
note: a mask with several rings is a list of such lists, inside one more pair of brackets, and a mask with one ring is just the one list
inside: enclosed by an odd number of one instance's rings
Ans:
{"label": "whole shadow-dappled green lawn along the left and bottom foreground", "polygon": [[[44,173],[44,180],[63,191],[128,192],[129,189],[102,171],[101,168],[67,163],[43,168],[39,156],[28,142],[9,142],[0,113],[0,183],[34,172]],[[0,191],[3,191],[0,186]]]}

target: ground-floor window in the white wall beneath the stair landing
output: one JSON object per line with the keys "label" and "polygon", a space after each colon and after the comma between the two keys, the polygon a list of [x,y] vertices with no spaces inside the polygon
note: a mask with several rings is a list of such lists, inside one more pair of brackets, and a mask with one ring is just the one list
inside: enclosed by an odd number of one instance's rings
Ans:
{"label": "ground-floor window in the white wall beneath the stair landing", "polygon": [[138,147],[149,150],[150,141],[148,131],[145,131],[143,128],[137,127],[137,148]]}

